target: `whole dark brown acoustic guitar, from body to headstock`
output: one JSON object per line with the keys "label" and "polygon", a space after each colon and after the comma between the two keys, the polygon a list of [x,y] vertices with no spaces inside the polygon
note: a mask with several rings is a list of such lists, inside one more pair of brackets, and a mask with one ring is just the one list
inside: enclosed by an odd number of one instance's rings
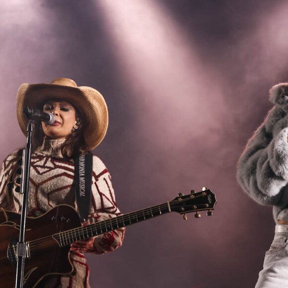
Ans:
{"label": "whole dark brown acoustic guitar, from body to headstock", "polygon": [[[180,193],[178,197],[164,204],[113,217],[108,220],[81,226],[74,208],[59,205],[39,217],[27,217],[23,288],[35,288],[46,277],[71,277],[76,273],[70,259],[70,245],[77,240],[88,239],[117,228],[129,226],[152,217],[177,212],[184,215],[208,210],[212,215],[216,204],[215,194],[204,187],[203,191]],[[15,287],[16,244],[19,237],[20,214],[0,212],[0,286]]]}

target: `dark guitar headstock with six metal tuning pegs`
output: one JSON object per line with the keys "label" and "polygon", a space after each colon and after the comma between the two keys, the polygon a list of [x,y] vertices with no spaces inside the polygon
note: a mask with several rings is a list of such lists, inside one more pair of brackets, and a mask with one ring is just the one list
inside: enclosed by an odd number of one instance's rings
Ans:
{"label": "dark guitar headstock with six metal tuning pegs", "polygon": [[179,193],[178,197],[169,202],[169,205],[171,211],[184,214],[184,219],[187,220],[186,214],[191,212],[196,212],[195,217],[200,218],[199,211],[208,210],[207,215],[211,216],[216,202],[215,194],[203,187],[201,192],[191,190],[188,195]]}

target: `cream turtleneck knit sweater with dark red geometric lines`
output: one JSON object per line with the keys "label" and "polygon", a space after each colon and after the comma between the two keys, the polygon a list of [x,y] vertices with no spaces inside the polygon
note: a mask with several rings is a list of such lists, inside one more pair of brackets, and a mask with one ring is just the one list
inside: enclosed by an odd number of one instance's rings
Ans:
{"label": "cream turtleneck knit sweater with dark red geometric lines", "polygon": [[[75,209],[74,163],[64,161],[61,154],[61,145],[65,140],[44,140],[41,147],[31,156],[30,184],[28,197],[28,216],[40,216],[56,205],[68,204]],[[21,150],[12,152],[3,161],[0,173],[0,207],[4,203],[7,193],[12,201],[8,209],[21,213],[22,196],[19,190],[21,168]],[[11,177],[11,169],[16,173]],[[17,171],[18,170],[18,171]],[[17,188],[18,187],[18,188]],[[111,177],[103,162],[93,156],[91,205],[88,220],[90,223],[118,216],[120,211],[115,202]],[[104,254],[121,246],[124,237],[124,228],[104,233],[94,238],[93,248],[89,251],[95,254]],[[76,268],[76,275],[72,278],[56,278],[49,281],[45,287],[55,288],[89,288],[89,268],[84,255],[79,252],[71,253]]]}

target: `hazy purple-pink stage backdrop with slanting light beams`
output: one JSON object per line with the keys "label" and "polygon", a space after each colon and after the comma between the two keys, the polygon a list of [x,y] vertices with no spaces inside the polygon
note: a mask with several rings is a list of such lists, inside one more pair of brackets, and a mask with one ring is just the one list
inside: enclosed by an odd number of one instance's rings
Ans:
{"label": "hazy purple-pink stage backdrop with slanting light beams", "polygon": [[211,217],[151,219],[115,252],[87,255],[92,288],[254,287],[275,223],[235,171],[270,87],[288,80],[287,14],[279,0],[2,1],[0,160],[25,144],[18,87],[69,77],[107,101],[94,153],[123,213],[216,193]]}

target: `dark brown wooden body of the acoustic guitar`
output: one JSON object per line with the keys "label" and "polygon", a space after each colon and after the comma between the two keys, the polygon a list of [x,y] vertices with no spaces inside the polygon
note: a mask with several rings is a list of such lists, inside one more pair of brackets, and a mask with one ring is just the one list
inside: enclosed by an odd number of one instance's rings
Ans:
{"label": "dark brown wooden body of the acoustic guitar", "polygon": [[[15,287],[15,254],[19,225],[19,214],[0,212],[1,287]],[[30,255],[25,259],[23,288],[34,288],[43,278],[49,276],[63,277],[76,273],[70,260],[70,245],[61,247],[51,235],[80,226],[81,221],[77,212],[68,205],[59,205],[36,218],[27,217],[26,241],[35,241],[29,244]],[[11,243],[15,244],[15,248],[8,249]]]}

